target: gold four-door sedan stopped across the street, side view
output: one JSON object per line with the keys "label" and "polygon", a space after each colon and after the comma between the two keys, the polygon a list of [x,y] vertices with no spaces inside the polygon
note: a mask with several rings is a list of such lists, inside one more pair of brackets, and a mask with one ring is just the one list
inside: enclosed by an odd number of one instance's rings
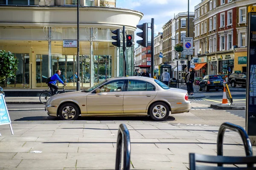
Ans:
{"label": "gold four-door sedan stopped across the street, side view", "polygon": [[150,116],[167,119],[170,112],[189,112],[187,91],[149,77],[115,77],[84,91],[57,94],[46,103],[49,116],[76,120],[81,116]]}

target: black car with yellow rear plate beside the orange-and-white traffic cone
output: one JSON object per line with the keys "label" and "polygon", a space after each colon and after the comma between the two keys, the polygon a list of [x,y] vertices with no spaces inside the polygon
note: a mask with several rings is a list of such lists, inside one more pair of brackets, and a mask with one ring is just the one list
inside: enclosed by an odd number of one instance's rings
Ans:
{"label": "black car with yellow rear plate beside the orange-and-white traffic cone", "polygon": [[199,82],[199,91],[205,89],[205,91],[209,91],[215,89],[218,91],[221,89],[223,91],[223,81],[221,75],[206,75],[204,78]]}

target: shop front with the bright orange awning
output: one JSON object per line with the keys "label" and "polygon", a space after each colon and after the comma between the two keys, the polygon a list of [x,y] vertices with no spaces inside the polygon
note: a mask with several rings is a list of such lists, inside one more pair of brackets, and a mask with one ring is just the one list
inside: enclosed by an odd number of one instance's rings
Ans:
{"label": "shop front with the bright orange awning", "polygon": [[198,57],[198,64],[195,64],[195,77],[203,78],[207,74],[207,56]]}

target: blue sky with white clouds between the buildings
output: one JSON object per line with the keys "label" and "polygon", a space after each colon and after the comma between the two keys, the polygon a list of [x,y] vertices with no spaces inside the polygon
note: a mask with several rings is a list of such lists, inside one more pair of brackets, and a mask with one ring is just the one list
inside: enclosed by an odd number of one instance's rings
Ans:
{"label": "blue sky with white clouds between the buildings", "polygon": [[[201,0],[189,0],[189,12],[195,12],[195,6],[201,3]],[[163,25],[174,18],[180,12],[188,11],[188,0],[116,0],[116,8],[128,8],[140,11],[144,14],[138,24],[151,23],[151,18],[154,18],[154,34],[163,32]],[[151,29],[148,29],[151,32]],[[141,32],[137,28],[135,31],[134,41],[141,40],[136,35]],[[151,40],[151,36],[148,37]],[[137,46],[137,43],[135,43]]]}

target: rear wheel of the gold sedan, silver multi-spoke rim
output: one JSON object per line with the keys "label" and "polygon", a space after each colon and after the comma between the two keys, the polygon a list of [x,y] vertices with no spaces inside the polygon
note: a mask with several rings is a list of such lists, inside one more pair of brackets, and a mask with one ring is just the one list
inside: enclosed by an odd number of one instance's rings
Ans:
{"label": "rear wheel of the gold sedan, silver multi-spoke rim", "polygon": [[151,105],[149,114],[151,119],[155,121],[163,121],[169,116],[169,107],[163,102],[156,102]]}

